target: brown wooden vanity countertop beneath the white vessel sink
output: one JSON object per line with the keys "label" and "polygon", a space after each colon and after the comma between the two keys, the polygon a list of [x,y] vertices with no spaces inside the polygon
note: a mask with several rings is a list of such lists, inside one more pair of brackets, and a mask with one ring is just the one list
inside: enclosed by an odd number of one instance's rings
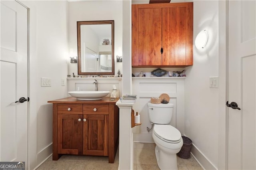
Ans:
{"label": "brown wooden vanity countertop beneath the white vessel sink", "polygon": [[101,100],[78,100],[76,97],[66,97],[62,99],[56,99],[52,101],[48,101],[48,103],[81,103],[81,104],[111,104],[116,103],[119,100],[119,98],[116,98],[114,101],[110,101],[109,97],[102,97]]}

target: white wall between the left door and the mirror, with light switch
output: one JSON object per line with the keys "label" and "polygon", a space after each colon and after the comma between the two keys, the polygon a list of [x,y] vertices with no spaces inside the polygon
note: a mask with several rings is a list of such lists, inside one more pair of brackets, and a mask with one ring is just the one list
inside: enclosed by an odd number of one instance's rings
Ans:
{"label": "white wall between the left door and the mirror, with light switch", "polygon": [[[67,96],[68,58],[67,2],[22,1],[30,8],[30,169],[52,153],[52,104],[47,101]],[[56,10],[58,9],[58,10]],[[41,87],[41,77],[52,79],[51,87]]]}

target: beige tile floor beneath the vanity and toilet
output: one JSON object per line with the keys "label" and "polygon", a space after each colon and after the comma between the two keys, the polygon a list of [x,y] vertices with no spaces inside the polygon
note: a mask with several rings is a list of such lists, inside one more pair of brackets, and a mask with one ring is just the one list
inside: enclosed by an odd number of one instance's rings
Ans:
{"label": "beige tile floor beneath the vanity and toilet", "polygon": [[[134,170],[159,170],[156,163],[154,143],[134,143]],[[182,159],[177,156],[179,170],[203,170],[190,156]],[[113,164],[108,163],[107,156],[63,155],[58,161],[50,157],[37,170],[117,170],[118,152]]]}

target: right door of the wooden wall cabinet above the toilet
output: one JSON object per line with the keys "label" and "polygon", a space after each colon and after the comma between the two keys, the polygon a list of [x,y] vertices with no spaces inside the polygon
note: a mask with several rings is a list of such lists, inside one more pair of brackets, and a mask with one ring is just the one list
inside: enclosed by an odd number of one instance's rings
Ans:
{"label": "right door of the wooden wall cabinet above the toilet", "polygon": [[163,8],[162,16],[162,65],[186,65],[186,8]]}

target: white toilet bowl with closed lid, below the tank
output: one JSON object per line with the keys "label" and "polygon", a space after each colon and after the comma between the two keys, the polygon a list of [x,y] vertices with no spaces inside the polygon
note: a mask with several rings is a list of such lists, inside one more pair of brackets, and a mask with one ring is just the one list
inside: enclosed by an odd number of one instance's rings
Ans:
{"label": "white toilet bowl with closed lid, below the tank", "polygon": [[152,137],[156,143],[158,167],[161,170],[178,170],[176,154],[183,145],[180,132],[171,125],[154,125]]}

